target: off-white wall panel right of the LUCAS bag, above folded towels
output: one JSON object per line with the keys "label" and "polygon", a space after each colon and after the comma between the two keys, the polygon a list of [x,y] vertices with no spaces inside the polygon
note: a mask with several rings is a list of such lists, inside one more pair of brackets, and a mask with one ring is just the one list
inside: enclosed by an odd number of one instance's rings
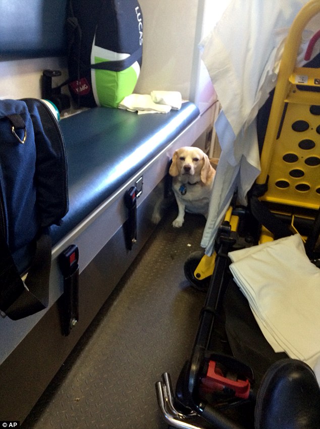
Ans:
{"label": "off-white wall panel right of the LUCAS bag, above folded towels", "polygon": [[189,99],[198,0],[139,0],[143,64],[135,92],[180,91]]}

